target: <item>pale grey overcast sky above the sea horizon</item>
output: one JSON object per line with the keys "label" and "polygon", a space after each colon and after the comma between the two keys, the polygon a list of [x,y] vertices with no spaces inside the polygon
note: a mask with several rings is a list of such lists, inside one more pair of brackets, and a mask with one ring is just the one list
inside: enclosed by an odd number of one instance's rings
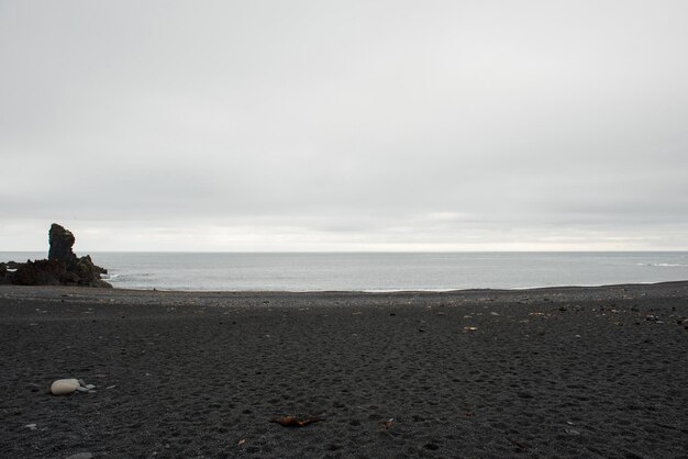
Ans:
{"label": "pale grey overcast sky above the sea horizon", "polygon": [[0,250],[688,250],[687,23],[0,0]]}

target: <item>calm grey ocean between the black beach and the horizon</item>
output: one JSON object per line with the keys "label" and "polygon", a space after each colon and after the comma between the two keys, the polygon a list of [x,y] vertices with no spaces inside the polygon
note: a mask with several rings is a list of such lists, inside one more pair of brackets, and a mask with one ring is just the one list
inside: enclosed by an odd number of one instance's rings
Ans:
{"label": "calm grey ocean between the black beach and the horizon", "polygon": [[[144,290],[442,291],[688,280],[687,251],[90,255],[115,288]],[[0,261],[45,257],[0,251]]]}

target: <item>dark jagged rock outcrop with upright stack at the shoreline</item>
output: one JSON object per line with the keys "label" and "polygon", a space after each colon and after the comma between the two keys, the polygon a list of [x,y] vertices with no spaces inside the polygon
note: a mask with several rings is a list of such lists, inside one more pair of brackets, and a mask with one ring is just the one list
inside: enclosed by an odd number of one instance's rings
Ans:
{"label": "dark jagged rock outcrop with upright stack at the shoreline", "polygon": [[48,232],[49,250],[45,260],[0,264],[0,283],[16,286],[112,286],[102,280],[108,270],[93,264],[89,255],[78,258],[71,250],[75,243],[69,229],[53,223]]}

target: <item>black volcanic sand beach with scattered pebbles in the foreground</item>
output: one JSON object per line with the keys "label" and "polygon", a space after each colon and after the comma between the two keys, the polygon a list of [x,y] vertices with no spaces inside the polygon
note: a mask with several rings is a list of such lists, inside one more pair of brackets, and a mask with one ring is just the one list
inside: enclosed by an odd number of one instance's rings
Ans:
{"label": "black volcanic sand beach with scattered pebbles in the foreground", "polygon": [[0,287],[0,457],[688,457],[687,316],[688,282]]}

